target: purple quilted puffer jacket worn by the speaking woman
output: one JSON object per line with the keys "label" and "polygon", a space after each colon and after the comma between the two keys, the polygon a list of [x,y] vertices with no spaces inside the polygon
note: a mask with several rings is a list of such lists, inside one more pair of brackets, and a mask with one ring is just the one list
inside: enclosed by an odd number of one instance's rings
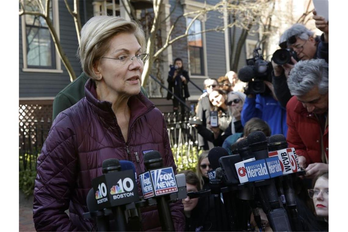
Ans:
{"label": "purple quilted puffer jacket worn by the speaking woman", "polygon": [[[105,159],[130,160],[139,175],[145,171],[143,152],[157,150],[164,166],[172,166],[176,173],[163,115],[144,95],[129,98],[131,115],[125,142],[111,103],[96,98],[92,80],[87,81],[85,94],[54,120],[38,158],[33,206],[37,231],[92,229],[95,222],[82,214],[88,211],[86,197],[91,181],[102,175]],[[142,195],[139,178],[137,185]],[[64,212],[68,208],[69,216]],[[182,203],[177,201],[170,208],[176,231],[184,231]],[[142,208],[141,216],[144,231],[161,230],[156,207]]]}

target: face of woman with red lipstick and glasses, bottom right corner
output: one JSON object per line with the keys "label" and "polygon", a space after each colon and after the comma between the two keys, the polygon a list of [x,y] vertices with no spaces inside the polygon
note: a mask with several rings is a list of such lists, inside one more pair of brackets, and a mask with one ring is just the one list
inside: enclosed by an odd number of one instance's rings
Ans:
{"label": "face of woman with red lipstick and glasses, bottom right corner", "polygon": [[319,191],[317,197],[313,198],[315,212],[319,217],[329,217],[329,199],[325,199],[329,198],[329,180],[319,177],[315,182],[314,191]]}

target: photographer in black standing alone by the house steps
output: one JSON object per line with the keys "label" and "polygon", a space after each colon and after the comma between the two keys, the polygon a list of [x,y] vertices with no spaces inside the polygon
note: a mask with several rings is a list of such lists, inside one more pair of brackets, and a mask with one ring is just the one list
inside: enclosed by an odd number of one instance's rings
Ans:
{"label": "photographer in black standing alone by the house steps", "polygon": [[[182,59],[176,58],[174,60],[174,66],[170,66],[170,70],[168,73],[168,89],[171,90],[183,102],[185,102],[186,98],[190,97],[189,88],[187,86],[189,80],[189,73],[186,70],[184,70]],[[179,101],[175,97],[172,97],[172,94],[168,92],[167,100],[170,99],[173,99],[173,111],[177,114]],[[182,103],[180,103],[180,107],[181,120],[183,120],[185,117],[185,106]]]}

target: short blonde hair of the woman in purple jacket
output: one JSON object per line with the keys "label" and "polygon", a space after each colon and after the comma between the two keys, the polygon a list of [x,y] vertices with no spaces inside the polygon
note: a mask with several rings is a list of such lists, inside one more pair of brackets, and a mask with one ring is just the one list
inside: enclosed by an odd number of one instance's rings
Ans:
{"label": "short blonde hair of the woman in purple jacket", "polygon": [[94,63],[109,50],[109,40],[116,34],[134,33],[142,51],[144,51],[145,35],[141,26],[131,20],[116,16],[95,16],[81,29],[80,47],[77,56],[80,58],[82,70],[91,78],[95,78]]}

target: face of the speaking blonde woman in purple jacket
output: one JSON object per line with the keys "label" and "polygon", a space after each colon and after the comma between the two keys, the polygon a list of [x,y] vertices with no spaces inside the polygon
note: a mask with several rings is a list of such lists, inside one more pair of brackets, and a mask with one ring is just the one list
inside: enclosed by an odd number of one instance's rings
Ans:
{"label": "face of the speaking blonde woman in purple jacket", "polygon": [[[128,58],[139,55],[141,46],[133,33],[120,33],[112,37],[109,41],[109,50],[103,57],[120,58],[130,55]],[[127,57],[127,56],[126,56]],[[117,59],[102,58],[97,65],[101,80],[105,83],[105,94],[111,95],[137,95],[140,92],[141,74],[144,64],[139,62],[136,57],[128,62],[121,63]]]}

